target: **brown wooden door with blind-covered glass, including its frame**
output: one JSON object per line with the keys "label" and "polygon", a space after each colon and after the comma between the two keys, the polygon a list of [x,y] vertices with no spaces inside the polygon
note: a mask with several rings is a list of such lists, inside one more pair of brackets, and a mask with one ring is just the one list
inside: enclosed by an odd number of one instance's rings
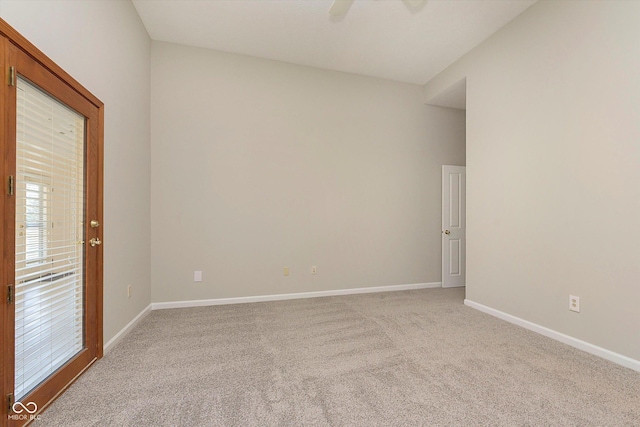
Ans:
{"label": "brown wooden door with blind-covered glass, including its frame", "polygon": [[1,425],[102,356],[102,103],[0,21]]}

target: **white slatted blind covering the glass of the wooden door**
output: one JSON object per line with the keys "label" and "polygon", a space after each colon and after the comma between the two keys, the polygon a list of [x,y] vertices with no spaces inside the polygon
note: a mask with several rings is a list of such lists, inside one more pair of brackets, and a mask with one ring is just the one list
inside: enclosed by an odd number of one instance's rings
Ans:
{"label": "white slatted blind covering the glass of the wooden door", "polygon": [[84,347],[85,119],[17,84],[15,397]]}

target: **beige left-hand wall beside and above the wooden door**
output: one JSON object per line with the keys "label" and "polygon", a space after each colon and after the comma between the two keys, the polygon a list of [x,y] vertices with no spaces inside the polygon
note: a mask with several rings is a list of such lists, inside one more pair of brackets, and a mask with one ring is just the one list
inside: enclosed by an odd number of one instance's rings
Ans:
{"label": "beige left-hand wall beside and above the wooden door", "polygon": [[0,16],[105,103],[106,343],[151,300],[150,40],[124,1],[0,0]]}

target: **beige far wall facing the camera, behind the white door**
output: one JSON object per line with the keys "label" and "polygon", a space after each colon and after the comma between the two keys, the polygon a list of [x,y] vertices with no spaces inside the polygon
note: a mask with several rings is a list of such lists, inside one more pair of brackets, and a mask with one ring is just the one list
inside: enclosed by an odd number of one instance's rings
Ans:
{"label": "beige far wall facing the camera, behind the white door", "polygon": [[160,42],[151,70],[154,302],[440,281],[440,167],[464,164],[463,111]]}

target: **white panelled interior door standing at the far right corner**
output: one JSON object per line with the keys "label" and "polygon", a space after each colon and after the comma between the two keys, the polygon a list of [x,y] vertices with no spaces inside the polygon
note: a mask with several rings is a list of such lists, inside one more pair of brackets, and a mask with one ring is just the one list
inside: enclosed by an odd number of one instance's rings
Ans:
{"label": "white panelled interior door standing at the far right corner", "polygon": [[442,287],[465,285],[465,167],[442,166]]}

